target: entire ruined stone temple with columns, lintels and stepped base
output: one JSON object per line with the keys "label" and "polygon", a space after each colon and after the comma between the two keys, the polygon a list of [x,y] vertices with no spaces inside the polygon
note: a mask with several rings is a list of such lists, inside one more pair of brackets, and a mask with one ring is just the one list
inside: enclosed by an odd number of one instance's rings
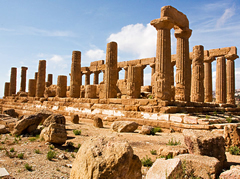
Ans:
{"label": "entire ruined stone temple with columns, lintels and stepped base", "polygon": [[[139,124],[196,129],[212,126],[186,113],[239,110],[234,99],[236,47],[204,49],[196,44],[190,50],[192,30],[188,18],[171,6],[162,7],[160,18],[152,20],[151,25],[157,31],[155,57],[118,62],[117,42],[110,42],[105,60],[96,59],[90,66],[82,67],[81,52],[73,51],[70,86],[64,75],[58,76],[57,85],[52,84],[53,75],[46,74],[47,62],[40,60],[38,72],[29,79],[27,93],[28,68],[22,67],[21,87],[16,93],[17,68],[12,67],[10,83],[5,83],[2,108],[14,108],[22,114],[47,109],[87,119],[98,114],[108,121],[131,119]],[[171,54],[172,28],[177,39],[176,54]],[[216,100],[212,96],[214,60],[217,62]],[[148,65],[152,69],[151,85],[143,86],[144,69]],[[125,71],[124,79],[119,79],[121,70]],[[101,73],[102,82],[99,81]],[[90,75],[94,76],[93,84]]]}

